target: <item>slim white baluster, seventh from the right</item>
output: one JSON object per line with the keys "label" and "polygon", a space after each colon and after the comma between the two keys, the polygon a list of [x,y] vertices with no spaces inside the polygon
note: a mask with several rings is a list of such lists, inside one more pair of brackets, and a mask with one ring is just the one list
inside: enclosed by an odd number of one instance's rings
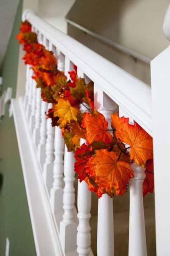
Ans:
{"label": "slim white baluster, seventh from the right", "polygon": [[45,112],[47,112],[47,102],[41,101],[41,124],[39,129],[40,141],[38,144],[38,160],[43,168],[46,159],[46,138],[47,138],[47,119]]}

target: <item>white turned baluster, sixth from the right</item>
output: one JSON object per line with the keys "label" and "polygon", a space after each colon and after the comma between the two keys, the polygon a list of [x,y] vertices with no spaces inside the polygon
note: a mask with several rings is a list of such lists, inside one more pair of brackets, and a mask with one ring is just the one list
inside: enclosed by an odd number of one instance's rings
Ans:
{"label": "white turned baluster, sixth from the right", "polygon": [[[52,107],[52,103],[48,103],[48,109],[51,107]],[[53,183],[53,161],[54,161],[54,127],[52,127],[51,125],[51,118],[48,118],[47,119],[46,160],[43,165],[43,177],[49,193]]]}

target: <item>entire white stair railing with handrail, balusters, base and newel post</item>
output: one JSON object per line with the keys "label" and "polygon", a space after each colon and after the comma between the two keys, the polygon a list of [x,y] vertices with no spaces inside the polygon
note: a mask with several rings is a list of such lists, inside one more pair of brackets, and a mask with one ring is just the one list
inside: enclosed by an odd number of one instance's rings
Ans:
{"label": "entire white stair railing with handrail, balusters, base and newel post", "polygon": [[[130,117],[153,136],[156,250],[157,256],[169,256],[170,47],[151,61],[152,86],[149,87],[47,24],[31,10],[23,13],[25,19],[32,24],[38,42],[55,54],[58,69],[67,75],[75,64],[78,76],[84,77],[86,82],[94,82],[94,107],[108,121],[110,113],[119,110],[119,116]],[[170,39],[170,7],[165,17],[164,33]],[[36,89],[32,75],[27,65],[24,102],[22,99],[19,103],[13,100],[13,113],[37,255],[92,256],[89,225],[91,192],[84,181],[78,182],[77,214],[73,152],[67,152],[66,147],[64,149],[61,130],[52,127],[50,119],[46,120],[44,112],[51,104],[41,100],[40,88]],[[134,178],[129,182],[129,256],[146,256],[142,198],[145,169],[135,164],[131,168]],[[46,192],[42,184],[45,184]],[[42,197],[46,200],[41,200]],[[42,223],[46,223],[44,230]],[[98,202],[97,225],[98,256],[113,256],[113,200],[107,194],[103,194]]]}

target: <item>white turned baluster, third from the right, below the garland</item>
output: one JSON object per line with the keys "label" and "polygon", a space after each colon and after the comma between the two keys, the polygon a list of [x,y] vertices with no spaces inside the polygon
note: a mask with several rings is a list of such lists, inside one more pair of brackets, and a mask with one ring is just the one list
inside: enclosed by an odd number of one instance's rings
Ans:
{"label": "white turned baluster, third from the right, below the garland", "polygon": [[[84,77],[84,73],[80,68],[77,68],[77,75],[81,78]],[[85,112],[86,110],[86,107],[83,105],[80,106],[81,112]],[[81,139],[80,144],[82,145],[83,143],[86,143],[85,139]],[[91,217],[91,192],[85,181],[78,181],[77,208],[77,217],[79,219],[79,225],[77,227],[77,252],[79,256],[88,256],[91,251],[91,228],[89,225]]]}

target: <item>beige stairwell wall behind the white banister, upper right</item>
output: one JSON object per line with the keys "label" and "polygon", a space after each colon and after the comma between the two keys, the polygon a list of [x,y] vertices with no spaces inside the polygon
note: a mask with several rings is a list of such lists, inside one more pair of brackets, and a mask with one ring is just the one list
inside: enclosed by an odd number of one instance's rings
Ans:
{"label": "beige stairwell wall behind the white banister, upper right", "polygon": [[[169,3],[169,0],[78,0],[67,18],[152,59],[169,45],[162,30]],[[143,82],[151,84],[150,65],[135,62],[132,57],[71,25],[68,26],[68,34]]]}

